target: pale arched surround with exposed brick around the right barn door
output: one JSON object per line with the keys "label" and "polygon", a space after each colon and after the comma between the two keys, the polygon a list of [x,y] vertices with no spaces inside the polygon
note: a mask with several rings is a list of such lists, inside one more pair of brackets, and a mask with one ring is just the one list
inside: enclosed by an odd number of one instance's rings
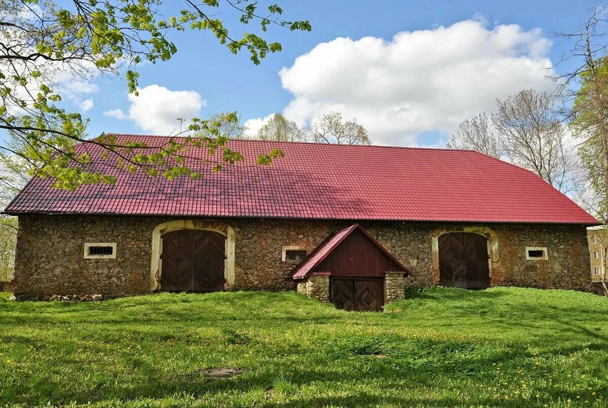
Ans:
{"label": "pale arched surround with exposed brick around the right barn door", "polygon": [[434,230],[431,235],[431,262],[433,281],[439,283],[439,237],[451,232],[472,232],[482,235],[488,240],[488,267],[490,274],[490,285],[496,285],[501,276],[498,235],[488,227],[453,227],[449,229]]}

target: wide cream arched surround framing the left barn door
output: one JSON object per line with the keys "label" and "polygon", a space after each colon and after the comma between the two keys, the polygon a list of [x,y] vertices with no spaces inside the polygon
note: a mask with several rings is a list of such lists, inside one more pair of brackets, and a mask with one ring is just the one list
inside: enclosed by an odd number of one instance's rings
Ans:
{"label": "wide cream arched surround framing the left barn door", "polygon": [[162,236],[165,233],[182,230],[198,229],[221,233],[226,238],[224,261],[224,289],[230,290],[234,286],[234,257],[235,233],[228,224],[206,220],[174,220],[159,224],[152,232],[152,259],[150,264],[150,290],[157,291],[162,273]]}

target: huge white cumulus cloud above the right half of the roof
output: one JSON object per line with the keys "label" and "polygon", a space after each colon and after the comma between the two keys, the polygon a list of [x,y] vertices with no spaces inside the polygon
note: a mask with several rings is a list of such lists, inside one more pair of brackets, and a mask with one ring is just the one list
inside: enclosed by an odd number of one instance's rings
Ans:
{"label": "huge white cumulus cloud above the right half of the roof", "polygon": [[[279,72],[293,94],[285,116],[300,125],[329,111],[356,118],[379,144],[416,145],[451,133],[496,98],[550,89],[550,41],[515,24],[470,19],[449,27],[321,43]],[[257,119],[260,120],[260,119]]]}

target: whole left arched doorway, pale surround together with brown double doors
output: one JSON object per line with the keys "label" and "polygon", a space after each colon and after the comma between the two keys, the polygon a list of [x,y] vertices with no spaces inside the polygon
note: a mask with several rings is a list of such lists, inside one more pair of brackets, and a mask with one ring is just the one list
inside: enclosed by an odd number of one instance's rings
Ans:
{"label": "whole left arched doorway, pale surround together with brown double doors", "polygon": [[[173,232],[184,231],[173,235]],[[190,232],[188,232],[190,231]],[[167,237],[168,239],[165,239]],[[207,240],[207,241],[206,241]],[[223,242],[223,245],[220,244]],[[168,246],[168,247],[167,247]],[[184,248],[181,248],[184,246]],[[175,249],[171,249],[174,247]],[[195,250],[198,247],[198,251]],[[223,255],[220,258],[219,252],[223,247]],[[192,248],[192,251],[184,255],[179,252],[184,252],[188,248]],[[168,251],[165,251],[168,249]],[[176,256],[176,254],[178,254]],[[182,256],[184,255],[184,256]],[[207,257],[207,258],[206,258]],[[210,258],[211,257],[211,258]],[[186,260],[184,265],[175,265],[175,261],[179,263],[179,260]],[[163,264],[173,263],[168,266],[169,268],[182,268],[182,273],[188,270],[188,262],[196,263],[196,260],[205,265],[215,262],[216,272],[217,269],[221,269],[221,266],[217,264],[223,260],[223,288],[220,288],[219,272],[212,275],[214,288],[210,290],[229,290],[232,289],[235,282],[235,232],[227,224],[219,223],[216,221],[207,220],[174,220],[162,223],[152,233],[152,257],[150,263],[150,290],[193,290],[193,291],[207,291],[208,289],[196,289],[201,288],[201,285],[206,284],[204,282],[205,276],[202,275],[202,281],[195,286],[193,283],[193,289],[174,289],[174,286],[167,288],[163,282],[167,282],[163,278]],[[194,274],[194,272],[192,272]],[[179,275],[179,272],[178,272]],[[169,278],[169,282],[173,282]],[[195,276],[193,275],[193,280]],[[199,278],[200,279],[200,278]],[[209,283],[210,284],[210,283]]]}

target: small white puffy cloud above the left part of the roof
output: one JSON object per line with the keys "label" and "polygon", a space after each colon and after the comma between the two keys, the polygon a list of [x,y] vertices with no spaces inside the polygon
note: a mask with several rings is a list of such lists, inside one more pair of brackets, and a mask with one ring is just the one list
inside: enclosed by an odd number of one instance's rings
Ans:
{"label": "small white puffy cloud above the left part of the roof", "polygon": [[131,119],[145,131],[168,136],[179,131],[178,117],[185,119],[182,125],[185,130],[189,120],[198,116],[207,103],[196,91],[171,91],[159,85],[148,85],[138,91],[139,95],[129,94],[128,114],[121,109],[110,109],[103,114],[115,119]]}

